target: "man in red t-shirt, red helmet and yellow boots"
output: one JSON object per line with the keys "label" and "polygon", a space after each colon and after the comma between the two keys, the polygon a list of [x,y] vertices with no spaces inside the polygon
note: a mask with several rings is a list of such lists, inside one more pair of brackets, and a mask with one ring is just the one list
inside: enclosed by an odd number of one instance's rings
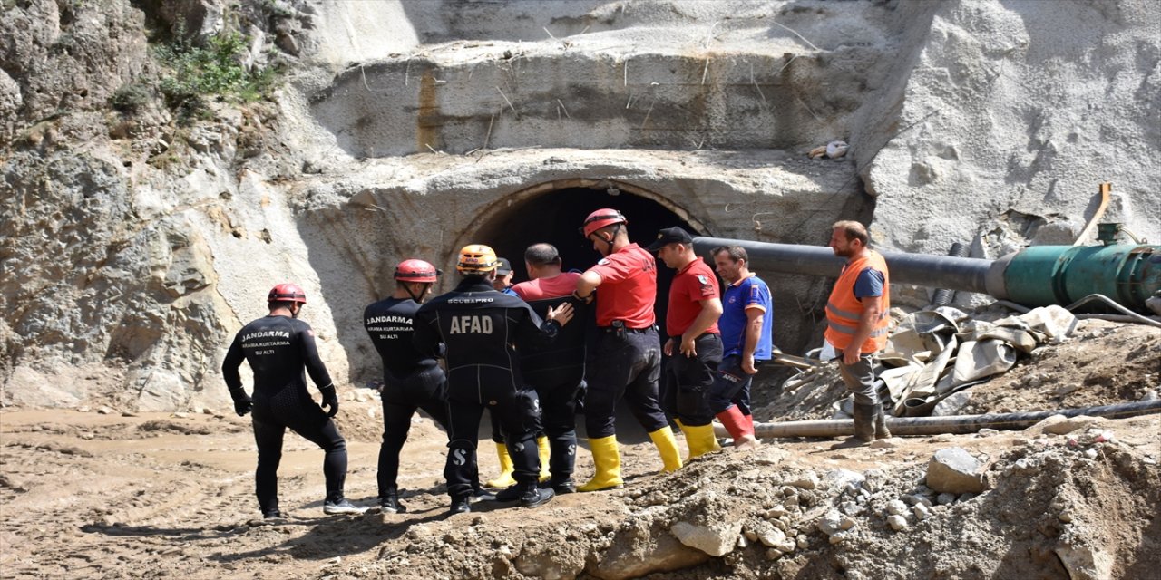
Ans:
{"label": "man in red t-shirt, red helmet and yellow boots", "polygon": [[665,471],[682,467],[677,441],[657,400],[661,340],[654,318],[657,266],[652,255],[629,242],[620,211],[599,209],[580,231],[605,258],[577,281],[574,296],[584,302],[597,292],[597,341],[585,367],[585,428],[597,472],[577,490],[594,492],[625,484],[616,448],[615,409],[622,397],[657,445]]}

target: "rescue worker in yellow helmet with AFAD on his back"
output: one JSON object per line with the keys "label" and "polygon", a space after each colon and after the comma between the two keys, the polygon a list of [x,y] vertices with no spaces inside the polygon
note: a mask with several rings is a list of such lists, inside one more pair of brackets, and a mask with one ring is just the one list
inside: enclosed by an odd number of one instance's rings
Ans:
{"label": "rescue worker in yellow helmet with AFAD on his back", "polygon": [[496,263],[492,248],[464,246],[456,263],[463,280],[455,290],[420,306],[414,318],[416,349],[424,356],[438,356],[442,343],[447,360],[452,441],[444,476],[452,514],[471,510],[479,418],[489,407],[500,416],[520,503],[535,507],[554,495],[551,488],[536,485],[540,401],[524,382],[517,348],[555,338],[572,318],[572,306],[549,309],[547,320],[541,320],[524,300],[492,288]]}

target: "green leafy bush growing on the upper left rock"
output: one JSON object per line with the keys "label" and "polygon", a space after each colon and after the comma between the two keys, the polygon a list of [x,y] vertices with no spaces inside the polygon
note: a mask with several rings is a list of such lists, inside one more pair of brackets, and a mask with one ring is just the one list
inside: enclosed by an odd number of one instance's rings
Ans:
{"label": "green leafy bush growing on the upper left rock", "polygon": [[160,82],[166,104],[186,123],[208,115],[207,99],[252,102],[273,89],[279,71],[275,67],[247,71],[243,66],[246,39],[238,32],[211,36],[203,46],[185,35],[157,49],[158,58],[171,68]]}

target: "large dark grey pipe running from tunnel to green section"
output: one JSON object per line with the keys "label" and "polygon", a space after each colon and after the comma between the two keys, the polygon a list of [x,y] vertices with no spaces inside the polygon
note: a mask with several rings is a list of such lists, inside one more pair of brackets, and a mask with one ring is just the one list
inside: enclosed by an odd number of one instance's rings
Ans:
{"label": "large dark grey pipe running from tunnel to green section", "polygon": [[[717,246],[742,246],[750,255],[750,269],[805,274],[836,278],[845,260],[837,258],[827,246],[799,246],[794,244],[770,244],[765,241],[733,240],[726,238],[697,237],[693,248],[698,255],[709,255]],[[993,260],[978,258],[954,258],[942,255],[904,254],[882,252],[890,268],[893,283],[929,288],[947,288],[967,292],[989,293],[1007,298],[1000,276],[988,277]]]}

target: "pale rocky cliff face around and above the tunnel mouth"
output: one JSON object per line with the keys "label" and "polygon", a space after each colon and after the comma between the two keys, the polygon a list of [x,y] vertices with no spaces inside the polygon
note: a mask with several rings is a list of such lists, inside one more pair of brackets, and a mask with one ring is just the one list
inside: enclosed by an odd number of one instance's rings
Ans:
{"label": "pale rocky cliff face around and above the tunnel mouth", "polygon": [[[635,241],[677,224],[817,245],[853,218],[887,249],[996,258],[1070,244],[1112,181],[1104,220],[1161,238],[1148,0],[9,5],[5,404],[221,407],[232,332],[284,281],[349,387],[380,372],[359,317],[399,260],[550,241],[585,268],[575,231],[600,206]],[[179,125],[146,23],[236,27],[246,66],[291,82]],[[779,346],[814,346],[827,281],[766,277]]]}

